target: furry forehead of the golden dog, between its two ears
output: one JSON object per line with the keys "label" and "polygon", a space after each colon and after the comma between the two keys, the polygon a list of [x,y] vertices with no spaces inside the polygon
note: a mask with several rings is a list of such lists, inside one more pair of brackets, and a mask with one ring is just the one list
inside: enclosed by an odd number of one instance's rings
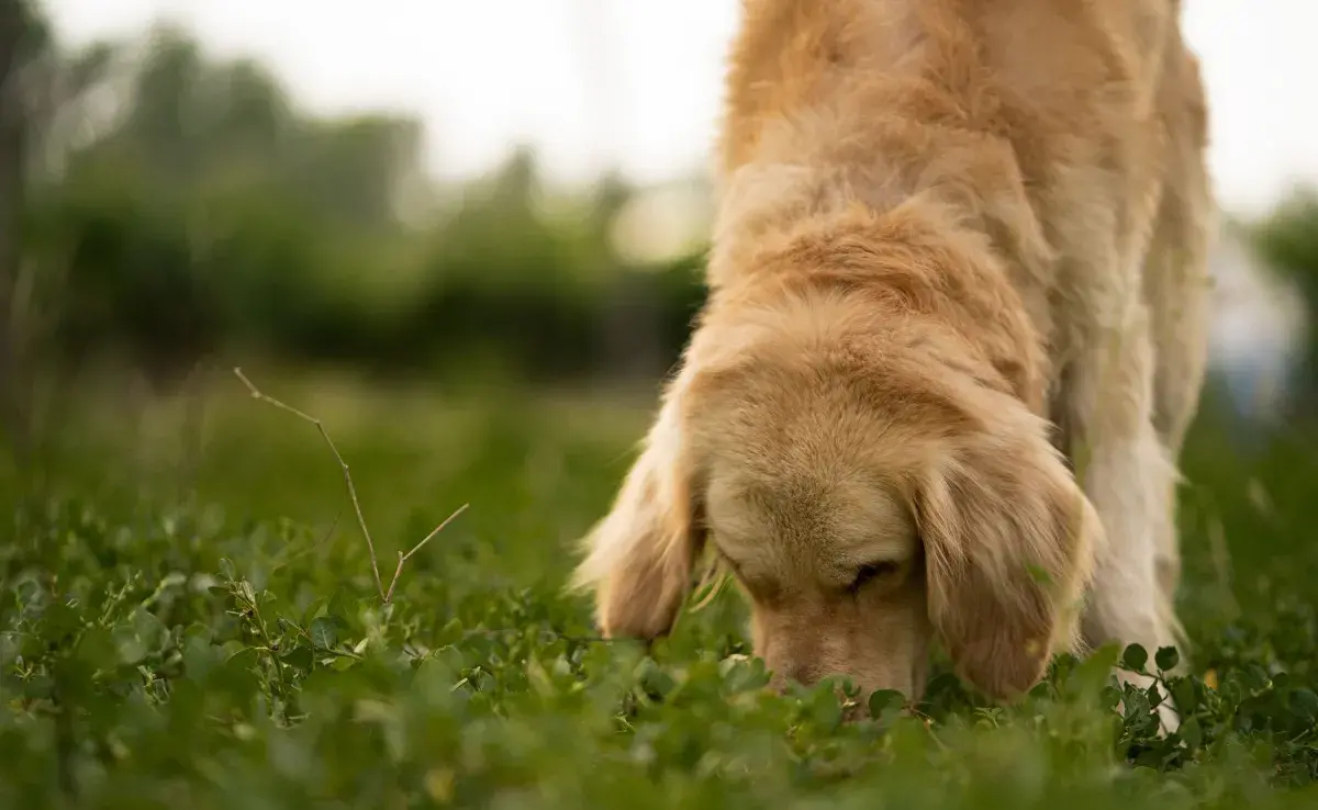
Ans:
{"label": "furry forehead of the golden dog, between its two ears", "polygon": [[909,547],[900,482],[919,448],[891,403],[828,369],[755,367],[693,410],[706,519],[728,556],[818,569]]}

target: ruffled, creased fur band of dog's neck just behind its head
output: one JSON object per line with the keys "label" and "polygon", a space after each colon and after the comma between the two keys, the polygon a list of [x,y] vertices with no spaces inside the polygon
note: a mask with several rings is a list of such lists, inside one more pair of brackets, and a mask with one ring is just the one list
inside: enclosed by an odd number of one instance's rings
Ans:
{"label": "ruffled, creased fur band of dog's neck just behind its head", "polygon": [[[925,319],[931,333],[953,336],[962,370],[1043,414],[1044,340],[990,238],[957,205],[923,192],[880,211],[826,173],[796,166],[741,180],[716,229],[706,317],[725,304],[799,310],[841,296],[876,332]],[[937,342],[916,350],[945,361]]]}

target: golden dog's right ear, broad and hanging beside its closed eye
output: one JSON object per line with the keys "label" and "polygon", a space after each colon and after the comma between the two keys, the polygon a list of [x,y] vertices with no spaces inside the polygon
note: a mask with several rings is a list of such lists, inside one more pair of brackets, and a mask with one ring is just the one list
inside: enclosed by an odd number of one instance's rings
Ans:
{"label": "golden dog's right ear, broad and hanging beside its closed eye", "polygon": [[1102,527],[1043,420],[1012,403],[981,427],[924,475],[916,515],[934,630],[961,677],[1010,698],[1079,643]]}

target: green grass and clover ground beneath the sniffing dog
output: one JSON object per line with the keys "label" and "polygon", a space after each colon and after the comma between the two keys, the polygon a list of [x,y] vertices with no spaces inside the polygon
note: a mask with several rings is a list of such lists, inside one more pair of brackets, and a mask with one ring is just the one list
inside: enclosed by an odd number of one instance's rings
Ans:
{"label": "green grass and clover ground beneath the sniffing dog", "polygon": [[[179,464],[177,403],[79,400],[45,475],[0,485],[0,807],[1311,807],[1315,460],[1201,424],[1186,454],[1188,709],[1159,739],[1107,666],[994,707],[937,666],[904,715],[768,694],[730,589],[645,651],[563,594],[651,400],[224,379]],[[95,407],[86,407],[95,403]],[[137,416],[141,416],[140,419]],[[1205,420],[1207,423],[1210,420]],[[146,431],[137,431],[136,425]],[[21,485],[21,486],[20,486]],[[1169,651],[1126,651],[1153,670]]]}

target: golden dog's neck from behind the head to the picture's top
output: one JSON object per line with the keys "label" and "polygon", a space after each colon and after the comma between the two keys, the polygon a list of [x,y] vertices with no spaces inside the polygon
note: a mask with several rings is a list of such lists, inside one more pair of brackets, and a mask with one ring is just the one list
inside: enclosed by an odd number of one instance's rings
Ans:
{"label": "golden dog's neck from behind the head to the picture's top", "polygon": [[[986,13],[920,0],[746,0],[708,283],[713,307],[813,284],[907,310],[892,315],[927,311],[1037,412],[1056,262],[1002,97],[963,70]],[[912,262],[919,271],[902,270]]]}

